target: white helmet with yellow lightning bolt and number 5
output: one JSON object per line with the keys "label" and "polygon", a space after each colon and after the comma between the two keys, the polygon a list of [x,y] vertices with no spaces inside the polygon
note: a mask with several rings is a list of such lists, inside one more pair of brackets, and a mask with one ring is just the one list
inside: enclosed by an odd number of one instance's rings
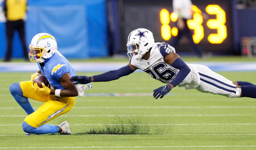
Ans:
{"label": "white helmet with yellow lightning bolt and number 5", "polygon": [[29,45],[29,59],[32,62],[44,62],[44,59],[50,58],[58,49],[56,39],[48,33],[39,33],[35,35]]}

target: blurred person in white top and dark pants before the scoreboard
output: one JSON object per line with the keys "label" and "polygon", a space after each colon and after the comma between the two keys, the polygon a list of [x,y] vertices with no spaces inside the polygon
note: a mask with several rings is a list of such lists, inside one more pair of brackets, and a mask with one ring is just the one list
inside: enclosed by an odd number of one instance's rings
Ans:
{"label": "blurred person in white top and dark pants before the scoreboard", "polygon": [[[178,19],[177,19],[178,35],[174,37],[173,40],[171,41],[170,43],[171,46],[175,47],[175,45],[180,40],[182,35],[185,35],[188,38],[192,48],[195,50],[196,54],[201,59],[211,56],[210,53],[207,53],[207,54],[203,53],[202,49],[197,44],[195,44],[192,37],[191,30],[188,28],[187,21],[189,19],[192,19],[192,13],[195,13],[191,9],[191,6],[192,6],[191,0],[173,0],[172,6],[173,6],[174,13],[176,13],[178,16]],[[202,13],[202,16],[204,18],[207,18],[207,15],[204,13]]]}

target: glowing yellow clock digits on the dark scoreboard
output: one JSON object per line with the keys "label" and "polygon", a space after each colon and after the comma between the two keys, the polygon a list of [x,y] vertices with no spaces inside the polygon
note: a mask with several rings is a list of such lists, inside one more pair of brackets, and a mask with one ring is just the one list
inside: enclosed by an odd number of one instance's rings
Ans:
{"label": "glowing yellow clock digits on the dark scoreboard", "polygon": [[[204,38],[204,27],[202,26],[203,17],[202,12],[195,5],[191,6],[192,10],[196,13],[193,14],[192,19],[187,21],[188,28],[194,30],[193,40],[197,44]],[[219,5],[208,5],[205,8],[206,12],[209,14],[216,15],[216,19],[209,19],[206,25],[209,29],[217,29],[217,33],[211,33],[208,36],[208,41],[213,44],[220,44],[227,38],[227,27],[226,23],[226,13]],[[174,37],[178,34],[178,29],[173,27],[171,29],[170,20],[172,22],[177,21],[177,15],[175,13],[169,13],[168,10],[163,8],[160,11],[160,22],[161,35],[164,40],[169,40],[171,35]]]}

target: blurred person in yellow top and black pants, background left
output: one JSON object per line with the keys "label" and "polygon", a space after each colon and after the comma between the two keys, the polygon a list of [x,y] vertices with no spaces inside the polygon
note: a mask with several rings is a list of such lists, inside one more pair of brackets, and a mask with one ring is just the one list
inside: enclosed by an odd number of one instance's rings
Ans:
{"label": "blurred person in yellow top and black pants, background left", "polygon": [[25,21],[27,11],[27,0],[5,0],[3,12],[7,19],[6,21],[6,37],[7,37],[7,52],[5,62],[11,61],[12,41],[14,31],[18,30],[19,37],[23,47],[23,54],[26,61],[29,61],[27,56],[26,40],[25,40]]}

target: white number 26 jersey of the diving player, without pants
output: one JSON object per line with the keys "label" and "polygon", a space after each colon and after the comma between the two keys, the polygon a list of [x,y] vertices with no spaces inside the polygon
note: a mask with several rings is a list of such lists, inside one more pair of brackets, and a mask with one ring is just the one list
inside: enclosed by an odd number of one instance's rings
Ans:
{"label": "white number 26 jersey of the diving player, without pants", "polygon": [[[130,63],[138,69],[147,72],[152,78],[168,84],[180,71],[179,69],[164,62],[164,56],[170,52],[175,52],[175,48],[171,45],[164,42],[155,43],[151,49],[148,60],[135,59],[130,60]],[[192,70],[191,65],[188,64],[188,66]],[[191,88],[188,84],[197,78],[197,76],[193,75],[191,72],[192,71],[190,71],[187,77],[179,84],[179,87],[184,87],[186,89]],[[193,87],[195,87],[198,84],[195,85],[195,83],[193,83],[193,85]]]}

